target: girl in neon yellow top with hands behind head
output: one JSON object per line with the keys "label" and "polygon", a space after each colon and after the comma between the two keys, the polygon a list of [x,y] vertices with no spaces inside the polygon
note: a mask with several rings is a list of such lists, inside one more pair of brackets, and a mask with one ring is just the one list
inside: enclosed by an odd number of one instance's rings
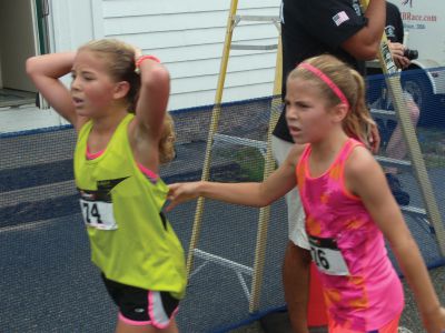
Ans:
{"label": "girl in neon yellow top with hands behind head", "polygon": [[[167,69],[107,39],[30,58],[27,72],[78,132],[76,185],[91,259],[119,307],[116,332],[177,332],[185,260],[161,212],[168,188],[157,175],[174,155]],[[60,81],[67,73],[70,89]]]}

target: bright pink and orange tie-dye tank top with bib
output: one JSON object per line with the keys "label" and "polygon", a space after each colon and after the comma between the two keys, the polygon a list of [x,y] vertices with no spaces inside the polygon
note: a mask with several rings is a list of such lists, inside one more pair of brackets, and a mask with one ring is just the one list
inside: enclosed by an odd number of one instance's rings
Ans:
{"label": "bright pink and orange tie-dye tank top with bib", "polygon": [[358,145],[363,144],[348,139],[328,170],[312,178],[308,144],[296,174],[329,320],[369,332],[402,312],[404,295],[382,232],[362,200],[345,186],[345,163]]}

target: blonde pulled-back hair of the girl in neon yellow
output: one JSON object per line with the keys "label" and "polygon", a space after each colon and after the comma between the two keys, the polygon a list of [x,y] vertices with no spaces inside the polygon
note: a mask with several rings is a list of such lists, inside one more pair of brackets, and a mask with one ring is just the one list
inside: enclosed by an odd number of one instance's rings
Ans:
{"label": "blonde pulled-back hair of the girl in neon yellow", "polygon": [[[78,52],[80,51],[95,52],[106,61],[108,73],[116,82],[127,81],[130,84],[126,97],[127,111],[135,113],[140,89],[140,77],[135,72],[135,48],[117,39],[100,39],[83,44],[78,49]],[[175,158],[175,140],[174,120],[167,112],[158,144],[160,163],[169,162]]]}

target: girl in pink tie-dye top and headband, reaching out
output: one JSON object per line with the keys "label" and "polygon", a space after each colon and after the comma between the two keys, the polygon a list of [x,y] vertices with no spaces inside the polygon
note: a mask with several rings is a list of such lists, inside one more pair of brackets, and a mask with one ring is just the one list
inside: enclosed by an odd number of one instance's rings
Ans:
{"label": "girl in pink tie-dye top and headband, reaching out", "polygon": [[285,163],[263,183],[171,184],[168,210],[197,196],[265,206],[298,184],[329,332],[397,332],[403,290],[383,236],[412,286],[427,332],[444,332],[445,309],[366,147],[373,120],[362,77],[338,59],[319,56],[290,72],[286,91],[287,124],[297,144]]}

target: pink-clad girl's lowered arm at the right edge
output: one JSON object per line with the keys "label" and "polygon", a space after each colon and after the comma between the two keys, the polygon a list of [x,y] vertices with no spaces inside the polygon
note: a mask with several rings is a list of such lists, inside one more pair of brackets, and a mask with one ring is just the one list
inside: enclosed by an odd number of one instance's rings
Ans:
{"label": "pink-clad girl's lowered arm at the right edge", "polygon": [[[363,176],[366,174],[366,176]],[[358,195],[397,258],[428,332],[445,330],[445,310],[402,212],[390,193],[382,168],[369,152],[357,148],[345,169],[346,185]]]}

